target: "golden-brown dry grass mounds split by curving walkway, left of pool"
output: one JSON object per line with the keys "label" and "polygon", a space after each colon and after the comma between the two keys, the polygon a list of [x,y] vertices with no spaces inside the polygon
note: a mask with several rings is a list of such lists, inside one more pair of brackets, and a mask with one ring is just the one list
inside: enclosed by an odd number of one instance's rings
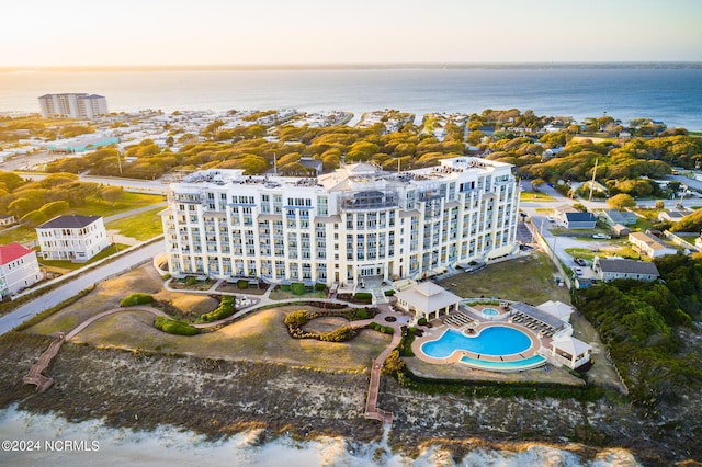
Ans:
{"label": "golden-brown dry grass mounds split by curving walkway, left of pool", "polygon": [[[157,300],[168,301],[183,312],[202,314],[218,305],[218,300],[207,295],[165,291],[158,273],[152,266],[146,265],[101,283],[76,304],[27,331],[39,334],[67,332],[91,316],[118,307],[120,300],[132,292],[151,294]],[[299,308],[288,306],[253,311],[217,331],[193,337],[167,334],[154,328],[152,315],[125,311],[97,321],[73,341],[100,348],[188,354],[203,358],[276,362],[341,371],[365,371],[369,362],[389,343],[389,335],[372,330],[363,330],[351,342],[344,343],[292,339],[283,320],[287,312]]]}

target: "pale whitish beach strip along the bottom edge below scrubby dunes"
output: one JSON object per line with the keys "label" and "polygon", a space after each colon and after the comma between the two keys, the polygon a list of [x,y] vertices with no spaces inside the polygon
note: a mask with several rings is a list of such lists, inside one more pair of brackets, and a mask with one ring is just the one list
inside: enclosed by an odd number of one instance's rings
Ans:
{"label": "pale whitish beach strip along the bottom edge below scrubby dunes", "polygon": [[[499,466],[633,467],[624,449],[603,449],[593,460],[551,446],[532,444],[519,452],[475,449],[456,464],[450,453],[429,447],[418,458],[390,453],[385,441],[354,451],[340,438],[302,443],[288,437],[259,445],[256,432],[208,442],[192,432],[162,426],[155,432],[105,426],[100,420],[70,423],[53,414],[33,414],[10,407],[0,411],[0,440],[30,441],[31,449],[0,451],[0,465],[13,466]],[[47,444],[47,442],[50,442]],[[19,445],[18,445],[19,446]],[[23,445],[23,447],[25,447]],[[57,448],[57,446],[63,446]]]}

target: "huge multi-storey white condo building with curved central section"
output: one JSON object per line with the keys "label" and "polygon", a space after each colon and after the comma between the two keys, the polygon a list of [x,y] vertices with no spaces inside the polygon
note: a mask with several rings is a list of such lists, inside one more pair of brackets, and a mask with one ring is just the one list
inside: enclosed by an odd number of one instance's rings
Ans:
{"label": "huge multi-storey white condo building with curved central section", "polygon": [[458,157],[401,173],[367,163],[317,178],[212,169],[173,183],[161,213],[170,273],[270,282],[421,278],[510,253],[512,166]]}

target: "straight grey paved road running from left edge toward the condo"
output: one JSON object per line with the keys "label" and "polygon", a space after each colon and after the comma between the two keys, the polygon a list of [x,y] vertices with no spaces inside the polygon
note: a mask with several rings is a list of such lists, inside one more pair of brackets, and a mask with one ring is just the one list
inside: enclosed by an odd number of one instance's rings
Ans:
{"label": "straight grey paved road running from left edge toward the condo", "polygon": [[76,278],[58,286],[48,294],[45,294],[0,318],[0,335],[29,320],[33,316],[67,300],[88,286],[99,283],[112,275],[128,271],[136,264],[139,264],[144,260],[150,260],[162,251],[163,242],[156,241],[144,248],[126,253],[105,265],[98,266],[78,275]]}

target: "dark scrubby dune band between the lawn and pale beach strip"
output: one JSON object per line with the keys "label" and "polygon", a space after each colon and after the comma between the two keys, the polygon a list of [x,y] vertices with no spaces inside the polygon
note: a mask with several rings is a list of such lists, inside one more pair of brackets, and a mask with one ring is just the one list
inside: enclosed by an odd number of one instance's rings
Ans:
{"label": "dark scrubby dune band between the lawn and pale beach strip", "polygon": [[[70,422],[100,419],[111,428],[146,432],[174,426],[210,441],[257,430],[258,444],[286,435],[296,441],[332,437],[359,451],[383,440],[382,424],[363,418],[367,372],[145,355],[68,343],[48,372],[57,383],[37,394],[21,376],[48,339],[20,334],[12,342],[0,341],[9,357],[0,375],[5,389],[0,408],[16,405]],[[611,449],[629,449],[650,464],[673,460],[668,457],[675,455],[672,448],[644,437],[652,428],[625,405],[476,398],[465,392],[426,395],[384,377],[378,405],[396,415],[387,433],[389,451],[416,458],[440,448],[461,458],[476,448],[520,452],[545,445],[586,460]],[[643,435],[632,441],[629,433]]]}

